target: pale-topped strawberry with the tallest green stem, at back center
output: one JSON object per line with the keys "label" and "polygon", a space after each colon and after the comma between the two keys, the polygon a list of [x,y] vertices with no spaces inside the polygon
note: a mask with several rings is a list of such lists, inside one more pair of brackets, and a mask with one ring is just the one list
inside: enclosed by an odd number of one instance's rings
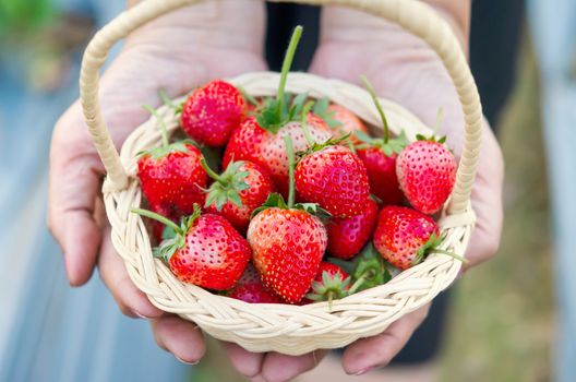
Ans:
{"label": "pale-topped strawberry with the tallest green stem, at back center", "polygon": [[[300,126],[302,105],[308,95],[301,94],[295,97],[290,107],[288,107],[290,97],[285,95],[288,72],[301,33],[301,26],[297,27],[290,40],[277,96],[265,99],[259,112],[253,118],[247,119],[232,133],[224,154],[225,166],[230,160],[251,160],[266,168],[285,198],[288,193],[288,158],[284,138],[286,135],[291,138],[297,152],[304,151],[310,145]],[[332,138],[331,129],[320,117],[309,114],[307,123],[310,126],[310,136],[314,142],[322,143]]]}

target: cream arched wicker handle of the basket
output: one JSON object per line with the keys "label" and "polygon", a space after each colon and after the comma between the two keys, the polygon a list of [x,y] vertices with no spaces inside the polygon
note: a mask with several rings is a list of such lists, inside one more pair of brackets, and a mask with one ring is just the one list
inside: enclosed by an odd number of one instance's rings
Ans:
{"label": "cream arched wicker handle of the basket", "polygon": [[[117,41],[158,16],[196,2],[199,0],[142,1],[101,28],[84,52],[80,73],[82,108],[96,150],[108,172],[110,186],[115,190],[123,190],[127,187],[128,176],[101,116],[98,102],[99,70],[110,48]],[[292,2],[345,5],[385,17],[419,36],[436,51],[454,82],[465,117],[464,147],[448,210],[451,214],[465,212],[468,208],[478,167],[482,138],[482,106],[466,57],[447,23],[429,5],[416,0],[293,0]]]}

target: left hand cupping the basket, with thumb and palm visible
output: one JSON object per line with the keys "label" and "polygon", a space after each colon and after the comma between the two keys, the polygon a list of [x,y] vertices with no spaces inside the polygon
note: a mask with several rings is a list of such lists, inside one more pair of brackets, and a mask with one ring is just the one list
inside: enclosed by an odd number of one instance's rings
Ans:
{"label": "left hand cupping the basket, with thumb and palm visible", "polygon": [[[212,79],[265,70],[262,58],[264,5],[223,0],[176,11],[132,34],[100,83],[104,117],[117,147],[157,106],[158,89],[182,95]],[[79,103],[58,121],[50,151],[48,224],[64,253],[70,284],[99,274],[120,309],[152,319],[158,344],[181,360],[204,353],[202,334],[190,323],[163,315],[130,280],[110,242],[103,215],[105,170],[88,135]]]}

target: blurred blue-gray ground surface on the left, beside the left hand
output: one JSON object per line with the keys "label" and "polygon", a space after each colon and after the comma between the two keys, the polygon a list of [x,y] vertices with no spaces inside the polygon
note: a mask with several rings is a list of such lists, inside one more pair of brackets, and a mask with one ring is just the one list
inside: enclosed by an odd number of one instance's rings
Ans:
{"label": "blurred blue-gray ground surface on the left, beside the left hand", "polygon": [[[59,1],[109,20],[123,1]],[[1,53],[0,53],[1,55]],[[76,97],[76,74],[50,94],[23,81],[17,55],[0,56],[0,381],[182,381],[144,321],[120,313],[97,276],[68,286],[45,228],[52,126]]]}

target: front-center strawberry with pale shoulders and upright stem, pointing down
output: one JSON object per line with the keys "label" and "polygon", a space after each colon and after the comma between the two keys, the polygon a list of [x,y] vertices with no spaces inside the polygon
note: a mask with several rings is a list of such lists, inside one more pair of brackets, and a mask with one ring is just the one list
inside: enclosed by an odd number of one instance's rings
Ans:
{"label": "front-center strawberry with pale shoulders and upright stem, pointing down", "polygon": [[254,211],[248,227],[252,261],[263,283],[289,303],[298,303],[310,289],[327,246],[322,220],[312,215],[315,205],[295,205],[293,151],[285,136],[289,160],[288,204],[279,194]]}

